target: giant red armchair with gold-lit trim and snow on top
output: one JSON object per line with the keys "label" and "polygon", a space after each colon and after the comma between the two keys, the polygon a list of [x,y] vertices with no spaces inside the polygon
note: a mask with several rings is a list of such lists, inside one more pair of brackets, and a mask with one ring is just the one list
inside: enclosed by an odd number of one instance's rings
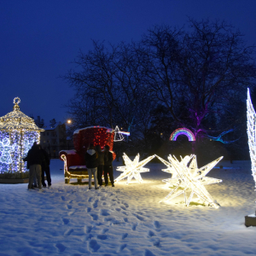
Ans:
{"label": "giant red armchair with gold-lit trim and snow on top", "polygon": [[[113,129],[102,126],[85,127],[74,131],[73,145],[75,149],[61,150],[59,153],[60,160],[64,161],[65,183],[69,183],[71,178],[77,178],[79,183],[83,178],[88,178],[84,154],[90,143],[93,143],[94,146],[100,145],[102,149],[108,145],[112,151],[113,138]],[[113,159],[115,159],[114,153]]]}

